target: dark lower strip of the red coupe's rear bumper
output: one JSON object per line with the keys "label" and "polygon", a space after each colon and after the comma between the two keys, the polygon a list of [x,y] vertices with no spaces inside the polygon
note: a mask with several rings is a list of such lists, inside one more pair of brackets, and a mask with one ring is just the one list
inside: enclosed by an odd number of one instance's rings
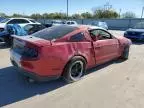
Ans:
{"label": "dark lower strip of the red coupe's rear bumper", "polygon": [[19,67],[17,65],[17,63],[15,63],[13,60],[11,60],[11,63],[13,64],[13,66],[15,66],[18,69],[18,71],[19,71],[19,73],[21,75],[29,77],[29,78],[31,78],[31,79],[33,79],[35,81],[38,81],[38,82],[51,81],[51,80],[56,80],[56,79],[60,78],[60,75],[55,75],[55,76],[40,76],[40,75],[38,75],[38,74],[36,74],[34,72],[29,72],[29,71],[27,71],[27,70]]}

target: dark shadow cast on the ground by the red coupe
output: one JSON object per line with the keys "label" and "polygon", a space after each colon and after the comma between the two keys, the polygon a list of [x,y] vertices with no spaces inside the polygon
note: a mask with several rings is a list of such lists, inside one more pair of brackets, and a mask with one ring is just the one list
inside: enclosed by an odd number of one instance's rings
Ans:
{"label": "dark shadow cast on the ground by the red coupe", "polygon": [[[96,72],[113,63],[122,61],[112,61],[96,68],[89,69],[87,74]],[[14,67],[0,69],[0,106],[12,104],[35,95],[41,95],[65,86],[62,79],[45,83],[28,83]]]}

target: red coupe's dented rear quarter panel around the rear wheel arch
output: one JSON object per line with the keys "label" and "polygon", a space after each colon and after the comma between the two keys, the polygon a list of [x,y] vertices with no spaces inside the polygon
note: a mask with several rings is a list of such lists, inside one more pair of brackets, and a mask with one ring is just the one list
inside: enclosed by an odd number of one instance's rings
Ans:
{"label": "red coupe's dented rear quarter panel around the rear wheel arch", "polygon": [[51,47],[43,47],[38,68],[41,69],[42,75],[61,75],[66,64],[74,56],[84,57],[87,68],[95,65],[91,42],[54,42]]}

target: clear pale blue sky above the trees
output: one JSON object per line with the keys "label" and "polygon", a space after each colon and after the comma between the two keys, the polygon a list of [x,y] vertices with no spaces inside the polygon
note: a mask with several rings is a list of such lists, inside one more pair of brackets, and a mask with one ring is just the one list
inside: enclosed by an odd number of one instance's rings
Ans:
{"label": "clear pale blue sky above the trees", "polygon": [[[30,15],[32,13],[66,12],[67,0],[0,0],[0,12]],[[126,11],[141,16],[144,0],[69,0],[69,14],[92,12],[94,7],[102,7],[109,2],[121,14]]]}

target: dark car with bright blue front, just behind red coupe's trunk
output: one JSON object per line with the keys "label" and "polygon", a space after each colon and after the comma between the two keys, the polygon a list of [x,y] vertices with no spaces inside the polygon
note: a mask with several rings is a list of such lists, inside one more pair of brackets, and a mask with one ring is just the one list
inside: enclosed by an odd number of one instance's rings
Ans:
{"label": "dark car with bright blue front, just behind red coupe's trunk", "polygon": [[11,45],[13,40],[12,35],[17,35],[17,36],[31,35],[46,27],[42,24],[26,24],[24,27],[21,27],[18,24],[13,24],[13,25],[11,24],[11,25],[7,25],[6,28],[7,31],[0,32],[0,40],[5,42],[7,45]]}

